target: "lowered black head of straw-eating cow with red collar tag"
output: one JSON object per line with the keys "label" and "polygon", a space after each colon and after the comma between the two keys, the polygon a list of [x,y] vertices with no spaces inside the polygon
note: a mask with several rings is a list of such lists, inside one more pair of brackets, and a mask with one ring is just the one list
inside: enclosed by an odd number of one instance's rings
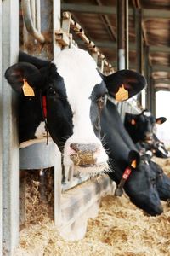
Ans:
{"label": "lowered black head of straw-eating cow with red collar tag", "polygon": [[163,212],[156,187],[156,172],[153,172],[149,163],[141,158],[137,151],[131,150],[129,152],[127,167],[122,173],[121,179],[120,173],[122,172],[110,174],[111,177],[116,175],[116,181],[118,183],[116,195],[122,195],[120,189],[123,184],[130,200],[137,207],[143,209],[144,212],[153,216]]}

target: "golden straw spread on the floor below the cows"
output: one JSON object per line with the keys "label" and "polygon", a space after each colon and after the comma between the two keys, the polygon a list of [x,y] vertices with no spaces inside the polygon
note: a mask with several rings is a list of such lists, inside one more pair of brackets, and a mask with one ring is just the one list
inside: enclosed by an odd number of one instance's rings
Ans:
{"label": "golden straw spread on the floor below the cows", "polygon": [[163,207],[161,216],[150,217],[126,196],[107,195],[101,200],[99,216],[88,220],[81,241],[64,241],[53,222],[44,218],[20,231],[14,256],[169,256],[170,206],[164,202]]}

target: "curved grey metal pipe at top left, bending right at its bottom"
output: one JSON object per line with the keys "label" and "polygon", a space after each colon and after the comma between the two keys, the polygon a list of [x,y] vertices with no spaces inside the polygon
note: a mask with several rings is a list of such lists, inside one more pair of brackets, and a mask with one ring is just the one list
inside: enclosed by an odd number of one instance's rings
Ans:
{"label": "curved grey metal pipe at top left, bending right at its bottom", "polygon": [[26,29],[31,33],[32,37],[36,38],[39,43],[45,43],[44,36],[37,31],[36,27],[33,25],[31,19],[31,9],[30,9],[30,0],[22,0],[22,11],[23,18],[25,21]]}

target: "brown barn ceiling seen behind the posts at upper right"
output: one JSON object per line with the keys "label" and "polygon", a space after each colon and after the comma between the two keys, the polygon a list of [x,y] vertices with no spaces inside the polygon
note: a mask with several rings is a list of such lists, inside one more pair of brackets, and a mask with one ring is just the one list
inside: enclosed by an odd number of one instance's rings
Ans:
{"label": "brown barn ceiling seen behind the posts at upper right", "polygon": [[[116,0],[65,0],[70,11],[99,50],[116,69]],[[170,0],[129,0],[129,67],[137,65],[135,11],[141,9],[144,45],[148,48],[156,90],[170,90]],[[84,47],[78,39],[78,44]],[[144,64],[143,64],[144,65]]]}

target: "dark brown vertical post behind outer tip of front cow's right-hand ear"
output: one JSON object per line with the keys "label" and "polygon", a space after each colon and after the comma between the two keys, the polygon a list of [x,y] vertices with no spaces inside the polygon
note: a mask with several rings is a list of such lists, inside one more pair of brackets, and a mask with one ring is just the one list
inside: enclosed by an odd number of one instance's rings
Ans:
{"label": "dark brown vertical post behind outer tip of front cow's right-hand ear", "polygon": [[[136,34],[136,55],[137,55],[137,71],[143,73],[143,32],[142,32],[142,10],[135,9],[135,34]],[[141,94],[138,96],[141,104]]]}

